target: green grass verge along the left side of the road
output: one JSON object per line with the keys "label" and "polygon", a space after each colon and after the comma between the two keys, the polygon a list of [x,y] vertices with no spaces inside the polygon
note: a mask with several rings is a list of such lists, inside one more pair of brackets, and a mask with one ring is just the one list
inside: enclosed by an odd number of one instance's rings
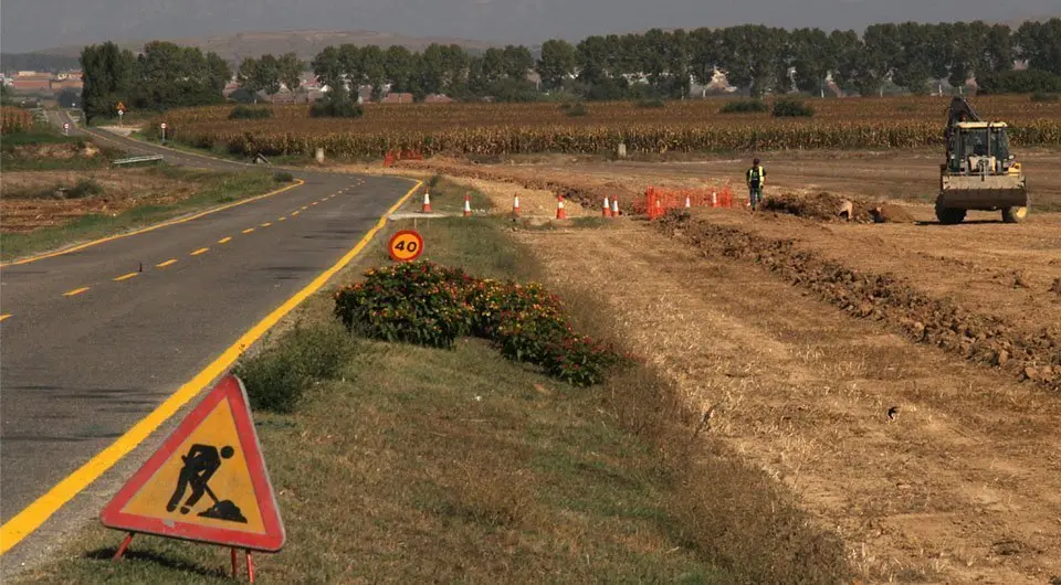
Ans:
{"label": "green grass verge along the left side of the road", "polygon": [[76,242],[106,237],[283,187],[271,173],[260,171],[233,173],[162,166],[151,168],[149,172],[196,182],[200,189],[195,196],[169,205],[139,205],[118,215],[90,213],[61,227],[48,227],[25,234],[3,234],[0,236],[0,258],[7,262]]}

